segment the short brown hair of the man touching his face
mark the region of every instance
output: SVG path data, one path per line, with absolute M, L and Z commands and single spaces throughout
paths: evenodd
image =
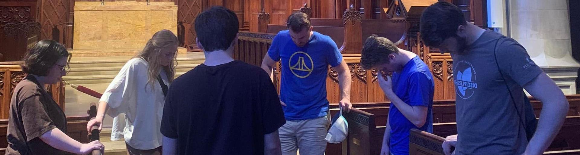
M 362 68 L 371 69 L 375 65 L 390 63 L 389 54 L 392 53 L 399 53 L 397 46 L 391 40 L 373 34 L 367 38 L 362 47 Z

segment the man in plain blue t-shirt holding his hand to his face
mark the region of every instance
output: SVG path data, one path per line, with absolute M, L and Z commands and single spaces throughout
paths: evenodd
M 409 154 L 409 130 L 433 132 L 434 83 L 429 67 L 415 53 L 389 39 L 371 35 L 362 48 L 361 65 L 378 69 L 380 88 L 391 104 L 381 155 Z M 393 72 L 383 77 L 381 72 Z

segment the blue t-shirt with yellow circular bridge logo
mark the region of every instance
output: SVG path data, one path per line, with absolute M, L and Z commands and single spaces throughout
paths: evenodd
M 272 40 L 268 56 L 282 63 L 280 99 L 287 120 L 314 119 L 327 115 L 326 79 L 328 65 L 336 67 L 342 54 L 327 35 L 313 32 L 308 43 L 298 47 L 288 32 Z

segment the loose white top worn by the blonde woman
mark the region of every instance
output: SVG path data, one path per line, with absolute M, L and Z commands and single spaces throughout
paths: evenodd
M 100 99 L 108 103 L 107 114 L 111 117 L 121 113 L 125 115 L 125 127 L 118 126 L 119 124 L 117 127 L 122 130 L 125 142 L 140 150 L 155 149 L 162 144 L 160 127 L 165 95 L 157 80 L 153 83 L 153 88 L 151 84 L 147 84 L 147 68 L 147 61 L 142 58 L 127 61 Z M 164 72 L 161 72 L 161 79 L 169 87 Z M 118 134 L 111 133 L 111 138 L 115 135 Z

